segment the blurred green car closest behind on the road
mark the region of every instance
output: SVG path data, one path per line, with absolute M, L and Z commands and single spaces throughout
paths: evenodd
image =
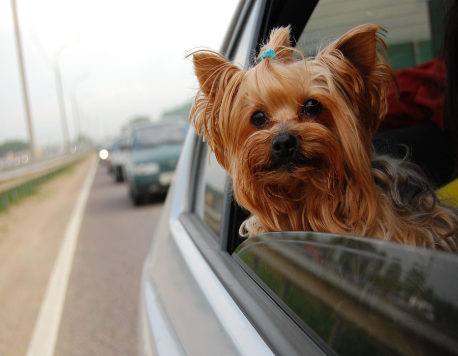
M 125 176 L 135 205 L 167 192 L 187 132 L 183 123 L 148 124 L 131 134 Z

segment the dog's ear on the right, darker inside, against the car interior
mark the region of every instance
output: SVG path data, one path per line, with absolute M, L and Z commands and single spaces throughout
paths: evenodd
M 358 26 L 318 55 L 333 74 L 337 87 L 344 91 L 370 136 L 373 136 L 387 111 L 387 91 L 394 73 L 385 58 L 386 46 L 374 24 Z

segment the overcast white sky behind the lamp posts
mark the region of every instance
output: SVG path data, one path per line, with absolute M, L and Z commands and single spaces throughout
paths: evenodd
M 16 0 L 37 146 L 63 142 L 52 62 L 60 56 L 70 138 L 116 136 L 133 117 L 153 120 L 195 94 L 185 55 L 219 50 L 239 0 Z M 79 40 L 78 40 L 79 39 Z M 76 90 L 75 90 L 76 87 Z M 0 0 L 0 143 L 28 140 L 11 0 Z

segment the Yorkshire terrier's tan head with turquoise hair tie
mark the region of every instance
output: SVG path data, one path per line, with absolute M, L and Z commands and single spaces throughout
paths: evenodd
M 289 28 L 277 28 L 248 71 L 215 52 L 193 54 L 200 90 L 191 122 L 266 230 L 299 228 L 282 220 L 305 205 L 318 211 L 342 194 L 370 195 L 370 140 L 393 77 L 380 30 L 356 27 L 306 58 L 290 46 Z M 329 214 L 342 209 L 332 204 Z

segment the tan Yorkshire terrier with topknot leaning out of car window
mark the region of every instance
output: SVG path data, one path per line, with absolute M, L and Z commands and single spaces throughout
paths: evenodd
M 358 26 L 306 57 L 276 28 L 247 71 L 193 53 L 190 121 L 253 214 L 241 235 L 311 230 L 457 251 L 458 212 L 417 166 L 374 153 L 395 80 L 382 31 Z

